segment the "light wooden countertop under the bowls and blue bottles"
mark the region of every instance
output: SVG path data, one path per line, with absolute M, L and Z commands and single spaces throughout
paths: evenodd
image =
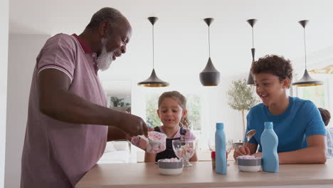
M 107 187 L 241 187 L 301 184 L 333 184 L 333 160 L 326 164 L 282 164 L 279 173 L 239 172 L 234 162 L 228 162 L 228 174 L 216 174 L 211 162 L 191 162 L 176 176 L 159 175 L 157 164 L 96 164 L 76 188 Z

